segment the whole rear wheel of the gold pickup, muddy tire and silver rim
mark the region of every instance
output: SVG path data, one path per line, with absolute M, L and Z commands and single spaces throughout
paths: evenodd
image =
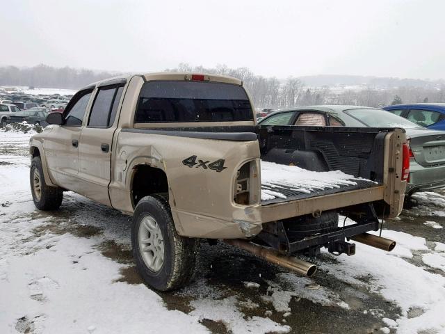
M 179 289 L 193 278 L 199 240 L 177 234 L 165 197 L 146 196 L 138 202 L 131 244 L 138 273 L 154 289 Z

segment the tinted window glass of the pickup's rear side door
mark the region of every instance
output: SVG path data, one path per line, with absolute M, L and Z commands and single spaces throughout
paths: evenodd
M 123 89 L 122 86 L 99 89 L 92 104 L 88 127 L 110 127 L 113 124 Z

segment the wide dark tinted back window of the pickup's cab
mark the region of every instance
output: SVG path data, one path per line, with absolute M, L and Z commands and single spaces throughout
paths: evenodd
M 148 81 L 140 90 L 137 123 L 253 120 L 245 90 L 203 81 Z

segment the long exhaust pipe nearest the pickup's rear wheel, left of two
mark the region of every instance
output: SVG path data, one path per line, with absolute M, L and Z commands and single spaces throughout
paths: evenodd
M 297 259 L 296 257 L 278 254 L 274 250 L 252 244 L 251 242 L 243 239 L 224 239 L 224 241 L 229 245 L 237 246 L 254 255 L 257 255 L 258 257 L 262 257 L 268 262 L 272 262 L 286 269 L 296 271 L 297 273 L 300 273 L 300 275 L 312 276 L 317 270 L 317 266 L 315 264 Z

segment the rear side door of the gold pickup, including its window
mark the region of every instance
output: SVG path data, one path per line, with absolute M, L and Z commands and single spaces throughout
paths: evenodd
M 108 184 L 111 180 L 113 134 L 118 126 L 118 106 L 126 81 L 97 87 L 86 127 L 79 141 L 79 179 L 82 194 L 111 205 Z

